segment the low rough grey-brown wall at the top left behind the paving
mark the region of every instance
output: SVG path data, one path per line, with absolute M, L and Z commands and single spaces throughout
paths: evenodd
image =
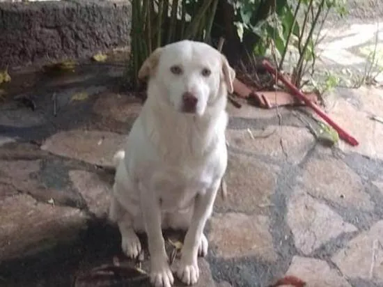
M 127 46 L 131 16 L 130 1 L 0 3 L 0 69 Z

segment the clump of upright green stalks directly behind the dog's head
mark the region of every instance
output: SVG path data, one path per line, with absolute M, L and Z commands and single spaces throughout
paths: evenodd
M 148 55 L 164 44 L 183 38 L 210 40 L 214 15 L 219 0 L 192 1 L 187 0 L 132 0 L 132 79 L 138 86 L 136 73 Z M 178 8 L 181 5 L 181 20 L 178 25 Z M 158 10 L 157 10 L 158 8 Z M 189 8 L 191 10 L 189 11 Z M 194 10 L 194 13 L 193 13 Z M 187 22 L 187 12 L 192 20 Z M 170 14 L 170 16 L 169 16 Z M 164 25 L 169 27 L 164 31 Z M 168 26 L 169 24 L 169 26 Z M 133 77 L 132 75 L 132 77 Z

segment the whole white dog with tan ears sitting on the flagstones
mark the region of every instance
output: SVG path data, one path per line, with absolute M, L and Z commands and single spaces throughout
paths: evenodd
M 173 284 L 162 228 L 187 230 L 177 275 L 195 284 L 197 256 L 208 252 L 203 228 L 226 171 L 225 108 L 235 71 L 217 49 L 183 40 L 156 49 L 139 70 L 144 77 L 148 98 L 115 156 L 109 216 L 127 256 L 141 252 L 136 232 L 148 235 L 156 287 Z

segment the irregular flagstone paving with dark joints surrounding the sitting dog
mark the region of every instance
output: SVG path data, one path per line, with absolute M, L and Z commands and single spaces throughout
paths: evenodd
M 141 100 L 113 88 L 122 68 L 98 65 L 58 79 L 34 75 L 28 93 L 18 88 L 28 75 L 8 87 L 12 97 L 0 106 L 0 286 L 101 286 L 74 281 L 122 256 L 116 226 L 105 220 L 111 158 Z M 301 121 L 311 121 L 304 109 L 228 104 L 228 194 L 206 228 L 210 251 L 196 286 L 266 287 L 284 274 L 315 287 L 383 286 L 383 124 L 370 119 L 383 117 L 382 93 L 338 88 L 326 98 L 357 148 L 322 146 Z

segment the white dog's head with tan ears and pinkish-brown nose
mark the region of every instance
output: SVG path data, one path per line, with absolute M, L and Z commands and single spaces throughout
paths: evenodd
M 157 48 L 139 70 L 149 77 L 155 96 L 174 109 L 202 116 L 227 92 L 233 93 L 235 71 L 226 57 L 203 42 L 183 40 Z

